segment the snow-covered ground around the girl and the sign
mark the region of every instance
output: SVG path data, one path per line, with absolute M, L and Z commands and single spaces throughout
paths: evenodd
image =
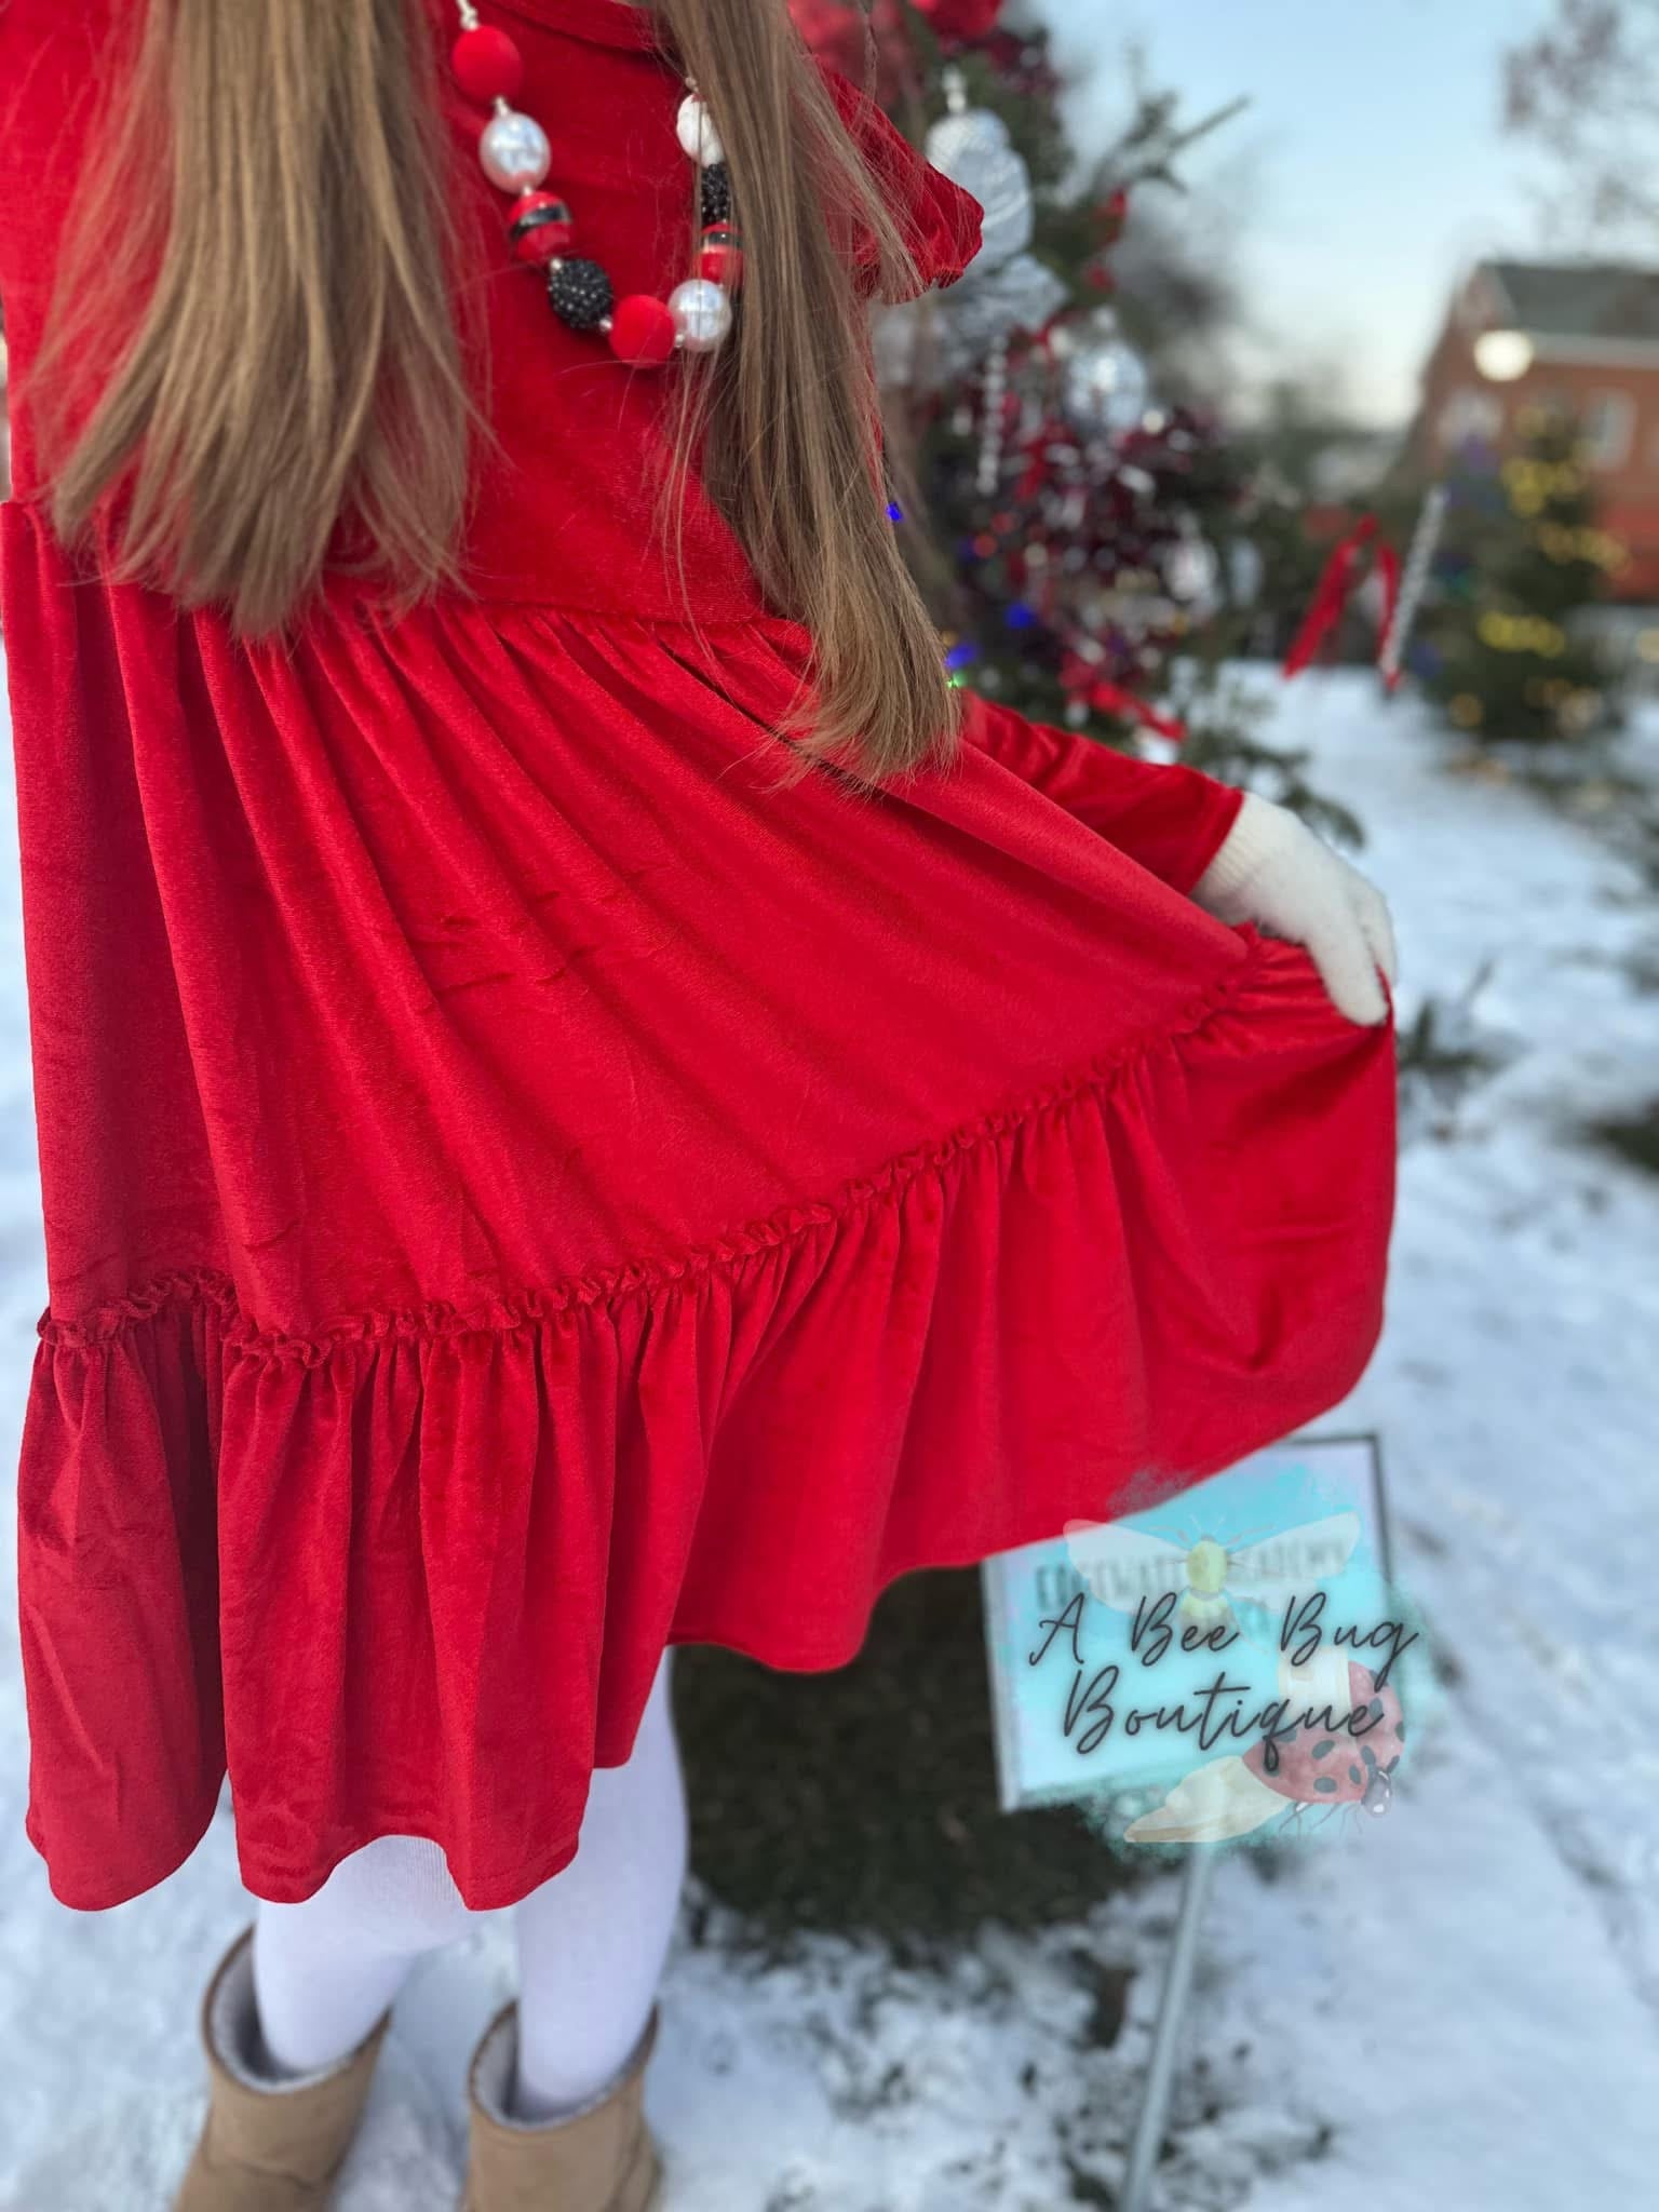
M 1391 1321 L 1329 1427 L 1378 1427 L 1400 1571 L 1447 1674 L 1387 1820 L 1217 1882 L 1168 2208 L 1579 2212 L 1659 2174 L 1659 1179 L 1582 1124 L 1659 1095 L 1659 909 L 1520 790 L 1449 776 L 1354 677 L 1281 734 L 1371 832 L 1402 1011 L 1455 1000 L 1513 1057 L 1413 1110 Z M 24 1006 L 0 914 L 0 1462 L 42 1305 Z M 1641 964 L 1646 956 L 1646 967 Z M 1646 973 L 1646 989 L 1644 989 Z M 4 1544 L 11 1542 L 7 1524 Z M 55 1907 L 22 1838 L 0 1641 L 0 2212 L 159 2212 L 197 2124 L 192 2004 L 241 1913 L 221 1823 L 164 1889 Z M 1110 2203 L 1155 2002 L 1115 2042 L 1099 1971 L 1152 1964 L 1172 1882 L 1075 1929 L 991 1931 L 947 1975 L 814 1942 L 761 1966 L 719 1922 L 668 1982 L 650 2104 L 670 2212 L 1048 2212 Z M 502 1929 L 411 1986 L 343 2212 L 449 2212 L 460 2062 Z

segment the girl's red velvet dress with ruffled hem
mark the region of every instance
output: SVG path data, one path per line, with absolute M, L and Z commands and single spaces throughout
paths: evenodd
M 106 4 L 0 11 L 24 387 Z M 495 15 L 582 237 L 666 290 L 648 20 Z M 867 137 L 949 281 L 973 204 Z M 80 1907 L 226 1772 L 261 1896 L 396 1832 L 518 1898 L 666 1641 L 838 1666 L 894 1575 L 1228 1464 L 1378 1329 L 1391 1037 L 1183 896 L 1234 796 L 989 708 L 878 799 L 779 792 L 803 635 L 710 509 L 695 622 L 653 551 L 672 369 L 566 332 L 467 190 L 476 597 L 237 650 L 64 555 L 18 418 L 29 1827 Z

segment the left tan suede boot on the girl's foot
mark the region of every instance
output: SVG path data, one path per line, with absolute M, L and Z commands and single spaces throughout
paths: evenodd
M 219 1962 L 201 2002 L 208 2121 L 175 2212 L 325 2212 L 352 2148 L 392 2015 L 327 2073 L 261 2068 L 252 1929 Z

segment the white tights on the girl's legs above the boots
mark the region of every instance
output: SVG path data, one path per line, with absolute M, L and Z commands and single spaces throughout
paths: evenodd
M 599 1767 L 575 1858 L 513 1907 L 518 2075 L 513 2112 L 555 2119 L 628 2064 L 657 1997 L 686 1878 L 686 1790 L 668 1703 L 668 1657 L 633 1756 Z M 471 1913 L 436 1843 L 380 1836 L 303 1905 L 259 1905 L 254 1997 L 283 2073 L 354 2051 L 416 1960 Z

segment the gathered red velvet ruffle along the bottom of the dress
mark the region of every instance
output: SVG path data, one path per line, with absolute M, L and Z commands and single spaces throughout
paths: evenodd
M 1323 1161 L 1272 1104 L 1310 1082 L 1358 1139 Z M 44 1323 L 22 1624 L 58 1896 L 161 1880 L 228 1767 L 259 1896 L 416 1834 L 507 1905 L 573 1856 L 666 1641 L 838 1666 L 896 1575 L 1312 1418 L 1380 1323 L 1389 1088 L 1254 940 L 1168 1035 L 675 1261 L 310 1338 L 212 1272 Z

